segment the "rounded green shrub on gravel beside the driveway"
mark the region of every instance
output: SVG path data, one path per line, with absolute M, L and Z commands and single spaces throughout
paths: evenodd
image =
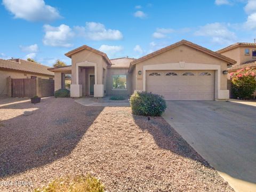
M 148 92 L 134 92 L 130 103 L 134 115 L 160 116 L 166 109 L 166 102 L 162 95 Z

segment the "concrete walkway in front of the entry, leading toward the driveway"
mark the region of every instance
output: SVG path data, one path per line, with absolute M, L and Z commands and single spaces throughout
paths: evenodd
M 113 101 L 108 98 L 95 99 L 91 97 L 79 98 L 75 100 L 83 106 L 100 106 L 100 107 L 130 107 L 128 100 Z

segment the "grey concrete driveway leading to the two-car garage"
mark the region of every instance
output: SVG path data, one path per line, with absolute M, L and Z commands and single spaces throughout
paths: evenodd
M 256 191 L 256 107 L 223 101 L 167 101 L 165 120 L 236 191 Z

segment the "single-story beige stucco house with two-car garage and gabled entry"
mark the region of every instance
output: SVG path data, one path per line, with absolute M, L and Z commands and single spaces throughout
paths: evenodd
M 50 68 L 55 90 L 71 73 L 71 97 L 132 94 L 148 91 L 166 100 L 228 99 L 228 65 L 235 60 L 186 40 L 139 59 L 109 59 L 103 52 L 81 46 L 65 54 L 71 66 Z

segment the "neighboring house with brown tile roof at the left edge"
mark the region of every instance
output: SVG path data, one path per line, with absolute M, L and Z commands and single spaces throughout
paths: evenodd
M 54 73 L 47 68 L 49 67 L 22 59 L 0 59 L 0 96 L 7 94 L 7 77 L 53 79 Z

